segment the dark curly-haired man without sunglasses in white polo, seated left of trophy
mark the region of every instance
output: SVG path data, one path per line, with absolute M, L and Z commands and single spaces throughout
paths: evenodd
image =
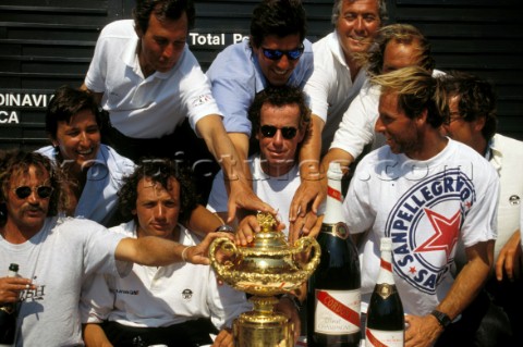
M 196 207 L 196 194 L 187 171 L 174 161 L 144 162 L 125 178 L 119 197 L 119 208 L 131 221 L 111 232 L 134 239 L 158 236 L 187 249 L 199 243 L 198 235 L 178 223 Z M 245 294 L 220 284 L 210 267 L 187 263 L 134 265 L 124 278 L 97 275 L 84 289 L 88 345 L 141 340 L 144 346 L 232 347 L 232 321 L 252 309 Z M 285 303 L 293 308 L 288 299 L 279 306 Z

